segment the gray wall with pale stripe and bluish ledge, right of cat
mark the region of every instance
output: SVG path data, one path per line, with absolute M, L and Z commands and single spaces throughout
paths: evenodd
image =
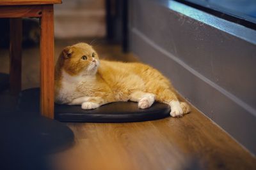
M 256 153 L 256 31 L 175 1 L 129 1 L 132 52 Z

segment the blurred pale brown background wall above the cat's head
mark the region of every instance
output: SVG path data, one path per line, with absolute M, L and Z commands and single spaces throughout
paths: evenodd
M 54 5 L 54 35 L 59 39 L 102 38 L 105 18 L 105 0 L 62 0 Z

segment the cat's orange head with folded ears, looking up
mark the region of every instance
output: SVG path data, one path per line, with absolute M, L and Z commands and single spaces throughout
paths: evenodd
M 65 47 L 59 60 L 61 67 L 72 76 L 95 74 L 100 64 L 97 52 L 86 43 Z

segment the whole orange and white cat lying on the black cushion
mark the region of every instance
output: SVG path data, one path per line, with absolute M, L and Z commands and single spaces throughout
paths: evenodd
M 140 109 L 159 101 L 170 105 L 172 117 L 189 112 L 189 105 L 179 102 L 170 81 L 156 69 L 136 62 L 99 60 L 86 43 L 64 48 L 55 67 L 55 102 L 91 110 L 116 101 L 138 102 Z

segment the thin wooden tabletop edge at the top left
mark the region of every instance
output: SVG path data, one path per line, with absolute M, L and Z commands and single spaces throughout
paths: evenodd
M 1 0 L 1 5 L 61 4 L 61 0 Z

